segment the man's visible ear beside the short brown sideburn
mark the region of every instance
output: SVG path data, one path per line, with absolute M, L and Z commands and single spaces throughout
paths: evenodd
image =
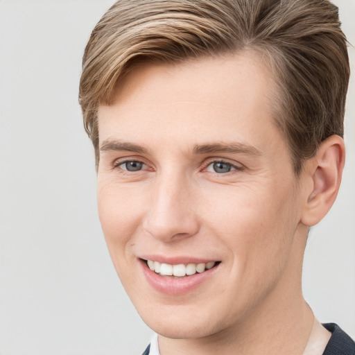
M 307 193 L 301 222 L 311 227 L 322 220 L 336 200 L 345 164 L 345 145 L 332 135 L 320 144 L 317 154 L 306 161 L 304 178 Z

